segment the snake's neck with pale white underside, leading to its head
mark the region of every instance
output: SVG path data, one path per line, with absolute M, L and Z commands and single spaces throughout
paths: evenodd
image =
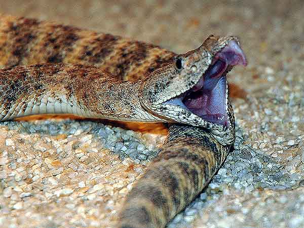
M 37 114 L 73 114 L 161 122 L 139 102 L 142 80 L 117 81 L 93 66 L 44 64 L 0 70 L 0 121 Z

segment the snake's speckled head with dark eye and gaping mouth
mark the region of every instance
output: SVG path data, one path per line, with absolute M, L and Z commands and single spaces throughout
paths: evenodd
M 201 47 L 176 55 L 142 84 L 140 102 L 166 122 L 208 129 L 223 145 L 235 139 L 226 74 L 247 65 L 235 36 L 210 35 Z

